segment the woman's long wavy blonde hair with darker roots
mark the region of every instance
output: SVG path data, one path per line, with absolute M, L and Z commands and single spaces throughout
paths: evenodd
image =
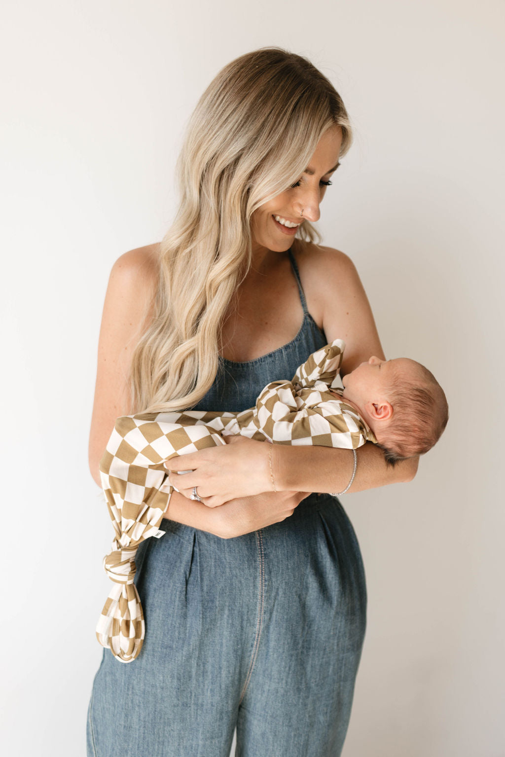
M 214 382 L 223 317 L 251 265 L 251 216 L 298 181 L 320 137 L 351 126 L 329 79 L 281 48 L 236 58 L 198 101 L 177 163 L 179 210 L 160 245 L 154 318 L 132 355 L 136 412 L 193 407 Z M 308 222 L 297 237 L 320 241 Z

